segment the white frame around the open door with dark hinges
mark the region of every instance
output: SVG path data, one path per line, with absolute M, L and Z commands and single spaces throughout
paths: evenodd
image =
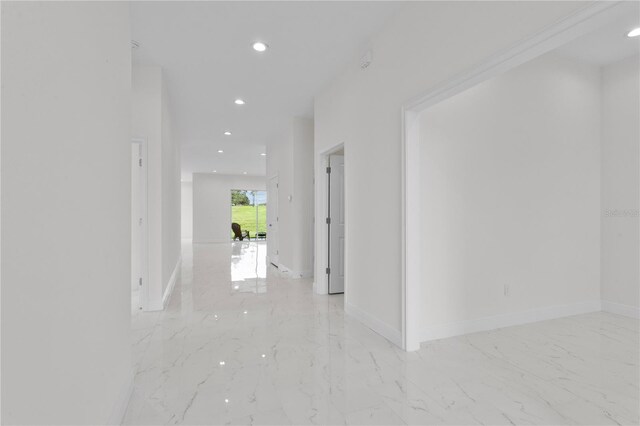
M 314 273 L 314 282 L 313 282 L 313 290 L 316 294 L 329 294 L 329 280 L 326 274 L 326 267 L 328 262 L 328 253 L 329 253 L 329 233 L 325 228 L 326 222 L 325 218 L 327 215 L 327 211 L 329 208 L 329 185 L 327 182 L 327 174 L 326 168 L 329 166 L 329 156 L 343 150 L 344 151 L 344 165 L 345 170 L 347 168 L 347 150 L 345 149 L 344 142 L 339 142 L 330 148 L 321 151 L 318 157 L 318 161 L 316 162 L 318 169 L 316 170 L 316 208 L 315 208 L 315 236 L 316 236 L 316 251 L 314 254 L 315 260 L 315 273 Z M 346 249 L 346 239 L 347 232 L 349 226 L 349 216 L 347 213 L 347 176 L 345 173 L 344 176 L 344 235 L 345 235 L 345 250 L 344 250 L 344 303 L 345 306 L 347 304 L 348 298 L 348 250 Z

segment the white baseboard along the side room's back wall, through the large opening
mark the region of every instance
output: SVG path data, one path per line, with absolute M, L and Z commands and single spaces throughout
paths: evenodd
M 570 305 L 550 306 L 547 308 L 531 309 L 524 312 L 495 315 L 468 321 L 459 321 L 448 324 L 440 324 L 427 327 L 419 335 L 420 342 L 444 339 L 479 331 L 495 330 L 514 325 L 529 324 L 532 322 L 568 317 L 571 315 L 598 312 L 601 310 L 599 300 L 589 302 L 572 303 Z

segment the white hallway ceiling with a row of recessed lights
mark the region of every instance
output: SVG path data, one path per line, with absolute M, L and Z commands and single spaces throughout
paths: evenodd
M 366 46 L 399 2 L 133 2 L 134 63 L 164 69 L 182 179 L 266 173 L 266 145 Z M 257 53 L 261 40 L 270 48 Z M 246 105 L 233 101 L 242 98 Z M 230 130 L 231 136 L 223 132 Z M 218 154 L 219 149 L 224 150 Z

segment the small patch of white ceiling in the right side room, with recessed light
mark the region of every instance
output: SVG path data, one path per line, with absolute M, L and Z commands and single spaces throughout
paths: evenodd
M 640 26 L 640 2 L 629 2 L 625 8 L 625 16 L 560 47 L 558 52 L 600 66 L 637 55 L 640 37 L 629 38 L 626 34 Z

